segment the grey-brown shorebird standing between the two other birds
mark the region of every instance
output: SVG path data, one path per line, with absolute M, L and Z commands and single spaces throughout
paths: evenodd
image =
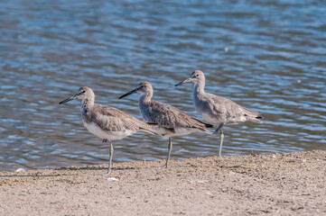
M 157 124 L 154 126 L 155 133 L 162 136 L 164 139 L 169 139 L 165 167 L 168 166 L 171 154 L 172 137 L 188 135 L 192 132 L 211 134 L 210 130 L 207 130 L 207 128 L 211 128 L 213 125 L 192 118 L 190 115 L 172 105 L 151 101 L 153 87 L 149 82 L 140 83 L 134 90 L 120 96 L 119 99 L 134 93 L 141 94 L 138 107 L 143 120 L 149 124 Z

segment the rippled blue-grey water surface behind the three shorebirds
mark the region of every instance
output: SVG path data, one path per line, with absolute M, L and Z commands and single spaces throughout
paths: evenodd
M 302 4 L 297 2 L 303 2 Z M 154 100 L 201 119 L 189 85 L 264 113 L 224 129 L 224 155 L 326 148 L 325 1 L 3 1 L 0 3 L 0 170 L 107 163 L 108 145 L 83 128 L 79 101 L 140 118 L 140 81 Z M 115 141 L 114 161 L 163 159 L 167 140 Z M 219 137 L 173 139 L 172 159 L 215 156 Z

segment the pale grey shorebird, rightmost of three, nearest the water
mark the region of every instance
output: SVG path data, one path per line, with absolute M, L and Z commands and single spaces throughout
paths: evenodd
M 260 119 L 263 117 L 260 116 L 260 112 L 250 111 L 246 107 L 240 106 L 228 98 L 206 93 L 204 91 L 205 76 L 202 71 L 193 71 L 191 77 L 175 86 L 189 82 L 194 83 L 192 101 L 195 110 L 200 113 L 205 121 L 219 125 L 217 130 L 215 130 L 215 132 L 220 132 L 219 156 L 221 156 L 222 153 L 224 125 L 238 124 L 238 122 L 242 121 L 256 121 L 262 123 Z

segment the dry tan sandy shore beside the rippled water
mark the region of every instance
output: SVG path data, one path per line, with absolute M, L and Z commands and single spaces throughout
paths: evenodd
M 0 215 L 326 215 L 326 151 L 0 173 Z

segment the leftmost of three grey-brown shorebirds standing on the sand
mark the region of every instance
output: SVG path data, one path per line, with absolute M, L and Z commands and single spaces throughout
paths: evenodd
M 61 101 L 61 103 L 76 99 L 82 101 L 80 112 L 85 128 L 95 136 L 103 139 L 102 142 L 110 142 L 107 174 L 111 172 L 114 151 L 112 140 L 123 139 L 136 131 L 152 133 L 152 125 L 148 125 L 130 114 L 107 105 L 94 104 L 95 94 L 87 86 L 80 87 L 75 95 Z

